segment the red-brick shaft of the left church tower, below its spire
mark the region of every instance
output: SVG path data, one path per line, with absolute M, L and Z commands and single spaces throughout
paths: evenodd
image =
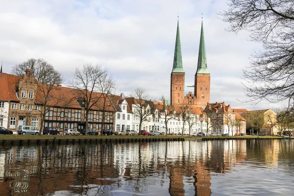
M 171 74 L 171 104 L 182 104 L 184 102 L 185 73 Z

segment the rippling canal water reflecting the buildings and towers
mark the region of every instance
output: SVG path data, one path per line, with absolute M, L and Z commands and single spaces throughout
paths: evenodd
M 0 196 L 292 196 L 294 140 L 0 147 Z

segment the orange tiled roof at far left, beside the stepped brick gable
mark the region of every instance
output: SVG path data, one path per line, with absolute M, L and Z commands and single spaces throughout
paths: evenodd
M 15 90 L 22 77 L 7 73 L 0 73 L 0 100 L 19 101 Z

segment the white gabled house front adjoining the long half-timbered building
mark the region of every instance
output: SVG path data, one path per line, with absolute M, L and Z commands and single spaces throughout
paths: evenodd
M 115 131 L 125 131 L 132 129 L 132 113 L 127 112 L 127 102 L 125 100 L 119 103 L 121 111 L 115 114 Z

